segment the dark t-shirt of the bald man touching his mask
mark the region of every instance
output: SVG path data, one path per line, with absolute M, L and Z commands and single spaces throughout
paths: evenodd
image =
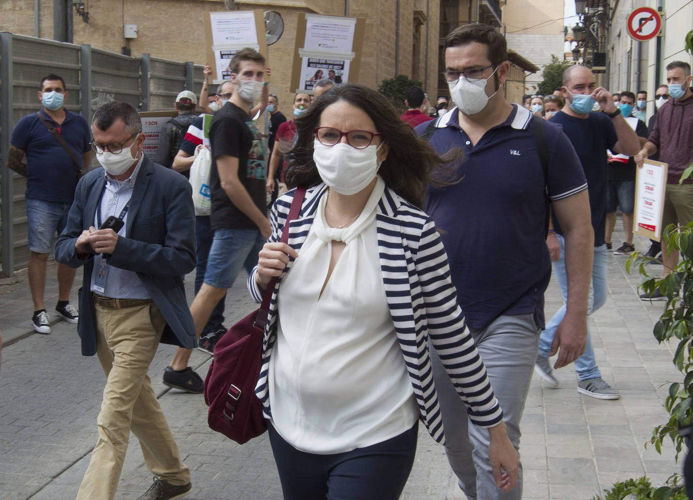
M 563 125 L 563 132 L 577 152 L 587 179 L 590 195 L 592 227 L 595 230 L 595 247 L 604 244 L 606 224 L 606 150 L 613 150 L 617 142 L 616 130 L 611 118 L 599 111 L 590 112 L 588 118 L 575 118 L 559 111 L 551 118 Z M 556 233 L 563 234 L 556 217 L 553 217 Z

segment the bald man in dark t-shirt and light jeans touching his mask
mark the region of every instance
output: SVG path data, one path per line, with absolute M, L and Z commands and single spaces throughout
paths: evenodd
M 640 141 L 635 130 L 628 124 L 621 110 L 616 107 L 611 93 L 604 87 L 597 87 L 595 75 L 585 66 L 570 66 L 563 72 L 563 109 L 552 118 L 552 123 L 563 126 L 563 132 L 568 136 L 575 148 L 580 163 L 585 172 L 590 194 L 590 213 L 592 227 L 595 232 L 593 247 L 593 271 L 590 285 L 589 313 L 592 314 L 606 301 L 606 265 L 608 250 L 604 242 L 606 227 L 606 188 L 608 185 L 608 164 L 606 150 L 633 156 L 640 150 Z M 632 94 L 631 94 L 632 95 Z M 599 103 L 601 111 L 593 112 L 595 102 Z M 565 243 L 565 228 L 563 221 L 554 219 L 555 235 L 547 239 L 550 248 L 558 249 L 560 258 L 554 262 L 554 272 L 561 287 L 563 300 L 570 303 L 568 281 L 565 266 L 568 262 L 563 258 Z M 554 355 L 554 336 L 559 328 L 565 305 L 556 312 L 541 332 L 539 355 L 536 359 L 536 373 L 541 375 L 548 384 L 556 387 L 558 380 L 552 374 L 549 357 Z M 559 368 L 556 366 L 556 368 Z M 592 342 L 587 337 L 585 352 L 575 360 L 575 371 L 578 375 L 577 391 L 592 398 L 601 400 L 617 400 L 618 391 L 602 379 L 599 367 L 595 361 Z

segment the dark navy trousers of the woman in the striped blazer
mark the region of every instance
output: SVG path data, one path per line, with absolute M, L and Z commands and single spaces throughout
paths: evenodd
M 268 424 L 284 500 L 397 500 L 407 482 L 419 422 L 399 436 L 351 452 L 300 452 Z

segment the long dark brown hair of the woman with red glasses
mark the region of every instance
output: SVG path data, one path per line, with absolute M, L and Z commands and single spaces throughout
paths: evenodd
M 417 136 L 399 118 L 383 94 L 358 83 L 332 87 L 313 102 L 304 116 L 295 118 L 296 142 L 289 153 L 286 184 L 292 188 L 310 187 L 322 182 L 313 161 L 313 131 L 326 107 L 338 101 L 362 109 L 373 120 L 381 134 L 381 142 L 387 143 L 389 148 L 378 174 L 388 188 L 407 202 L 423 208 L 429 182 L 439 184 L 431 178 L 432 171 L 449 160 L 439 157 L 426 141 Z

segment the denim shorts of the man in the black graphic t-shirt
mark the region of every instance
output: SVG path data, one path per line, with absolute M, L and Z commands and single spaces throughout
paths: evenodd
M 204 283 L 215 288 L 231 288 L 241 266 L 248 273 L 253 270 L 264 244 L 265 239 L 257 229 L 215 229 Z

